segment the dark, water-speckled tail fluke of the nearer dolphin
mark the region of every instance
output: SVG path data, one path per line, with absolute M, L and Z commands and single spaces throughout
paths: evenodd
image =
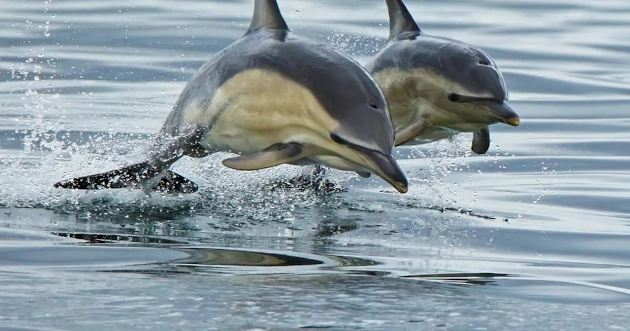
M 123 168 L 97 173 L 84 177 L 72 178 L 55 183 L 62 189 L 103 190 L 143 188 L 168 193 L 194 193 L 198 186 L 185 177 L 171 170 L 163 170 L 148 162 L 137 163 Z

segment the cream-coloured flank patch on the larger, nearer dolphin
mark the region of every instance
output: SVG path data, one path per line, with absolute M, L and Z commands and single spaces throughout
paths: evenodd
M 264 69 L 236 74 L 217 89 L 207 109 L 186 115 L 185 123 L 214 122 L 203 144 L 246 154 L 276 142 L 321 145 L 339 127 L 306 87 Z

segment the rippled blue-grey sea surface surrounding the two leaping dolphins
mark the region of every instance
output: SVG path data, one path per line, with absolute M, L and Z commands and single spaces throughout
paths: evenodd
M 365 62 L 381 0 L 281 0 Z M 397 151 L 411 189 L 271 189 L 179 161 L 185 197 L 58 190 L 142 158 L 252 1 L 0 2 L 0 330 L 630 329 L 630 2 L 412 1 L 501 67 L 519 127 Z

